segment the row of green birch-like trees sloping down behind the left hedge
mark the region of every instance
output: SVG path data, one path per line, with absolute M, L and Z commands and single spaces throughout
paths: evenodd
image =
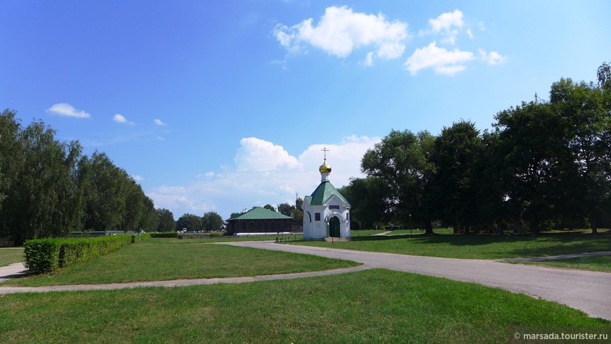
M 105 153 L 81 152 L 42 121 L 23 128 L 14 111 L 0 114 L 0 237 L 20 244 L 73 230 L 174 229 L 171 212 L 156 210 Z

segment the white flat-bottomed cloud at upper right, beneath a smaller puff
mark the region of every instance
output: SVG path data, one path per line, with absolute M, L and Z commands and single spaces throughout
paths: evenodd
M 419 70 L 431 67 L 438 74 L 453 75 L 465 70 L 464 62 L 473 60 L 473 53 L 470 51 L 447 51 L 445 48 L 438 47 L 435 42 L 431 42 L 424 48 L 418 48 L 412 56 L 405 62 L 407 70 L 416 74 Z

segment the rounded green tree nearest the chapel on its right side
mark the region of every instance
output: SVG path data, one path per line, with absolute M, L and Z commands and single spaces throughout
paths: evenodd
M 424 197 L 435 171 L 430 161 L 434 143 L 435 137 L 428 131 L 416 135 L 393 130 L 361 160 L 363 173 L 383 182 L 383 199 L 390 215 L 402 223 L 413 215 L 427 234 L 433 234 L 432 214 L 426 209 Z

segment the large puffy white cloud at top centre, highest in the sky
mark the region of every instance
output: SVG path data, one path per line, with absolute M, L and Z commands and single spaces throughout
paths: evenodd
M 272 33 L 289 53 L 301 53 L 302 44 L 345 58 L 355 48 L 375 46 L 376 58 L 398 58 L 405 51 L 407 23 L 389 22 L 382 13 L 378 15 L 355 13 L 347 6 L 331 6 L 325 9 L 317 25 L 313 18 L 288 27 L 276 25 Z M 371 60 L 374 55 L 369 55 Z

